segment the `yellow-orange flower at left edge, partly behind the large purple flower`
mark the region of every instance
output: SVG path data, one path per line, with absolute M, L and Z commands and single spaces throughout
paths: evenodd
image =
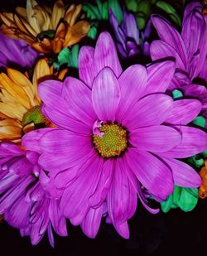
M 22 135 L 30 130 L 51 127 L 41 114 L 37 86 L 46 79 L 63 80 L 66 71 L 54 74 L 46 59 L 41 59 L 36 63 L 32 84 L 18 70 L 7 68 L 7 74 L 0 74 L 0 141 L 20 142 Z

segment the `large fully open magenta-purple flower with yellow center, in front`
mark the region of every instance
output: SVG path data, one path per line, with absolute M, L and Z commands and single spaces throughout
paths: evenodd
M 174 72 L 170 60 L 123 71 L 103 32 L 95 49 L 79 51 L 80 80 L 39 85 L 44 114 L 58 128 L 27 133 L 23 147 L 40 152 L 39 164 L 63 191 L 60 210 L 89 237 L 107 209 L 107 221 L 128 238 L 137 196 L 146 202 L 142 186 L 159 201 L 174 185 L 200 186 L 195 170 L 176 158 L 207 148 L 206 133 L 185 126 L 201 104 L 164 94 Z

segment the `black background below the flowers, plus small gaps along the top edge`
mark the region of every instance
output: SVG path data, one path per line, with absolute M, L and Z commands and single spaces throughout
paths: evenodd
M 0 2 L 0 11 L 12 11 L 14 7 L 24 6 L 25 0 Z M 54 2 L 54 1 L 39 1 Z M 76 1 L 78 2 L 78 1 Z M 79 1 L 81 2 L 81 1 Z M 91 2 L 91 1 L 89 1 Z M 181 0 L 171 2 L 182 13 Z M 190 2 L 190 1 L 188 1 Z M 164 214 L 152 215 L 141 204 L 137 213 L 129 220 L 130 239 L 122 239 L 112 225 L 104 220 L 96 239 L 87 238 L 79 227 L 68 224 L 69 236 L 55 235 L 55 249 L 52 249 L 47 236 L 41 243 L 32 246 L 28 237 L 21 238 L 19 231 L 0 224 L 1 255 L 206 255 L 207 252 L 207 199 L 199 200 L 195 210 L 185 213 L 171 210 Z

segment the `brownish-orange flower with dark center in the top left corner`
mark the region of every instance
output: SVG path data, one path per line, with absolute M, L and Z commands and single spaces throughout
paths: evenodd
M 27 0 L 26 8 L 16 13 L 0 13 L 2 32 L 15 39 L 24 39 L 42 53 L 58 53 L 63 47 L 75 45 L 89 31 L 89 22 L 78 21 L 81 5 L 65 7 L 57 0 L 53 8 L 41 7 L 35 0 Z

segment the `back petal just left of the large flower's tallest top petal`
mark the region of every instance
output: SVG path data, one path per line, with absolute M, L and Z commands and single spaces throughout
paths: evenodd
M 79 79 L 91 88 L 94 77 L 94 48 L 82 46 L 79 50 Z

